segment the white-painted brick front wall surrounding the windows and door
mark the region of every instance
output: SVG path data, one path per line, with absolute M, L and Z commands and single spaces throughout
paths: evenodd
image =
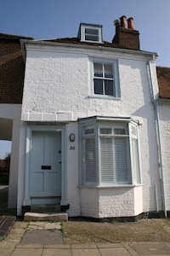
M 141 212 L 156 211 L 157 204 L 162 210 L 155 110 L 150 97 L 147 57 L 94 49 L 40 45 L 38 48 L 35 45 L 27 46 L 22 120 L 73 121 L 67 125 L 66 139 L 69 215 L 94 218 L 135 216 Z M 118 60 L 120 98 L 102 99 L 90 96 L 89 56 Z M 76 121 L 78 118 L 94 115 L 132 117 L 139 121 L 143 186 L 115 189 L 78 187 L 79 149 Z M 69 142 L 72 131 L 76 134 L 74 150 L 70 150 Z M 158 190 L 157 201 L 155 186 Z

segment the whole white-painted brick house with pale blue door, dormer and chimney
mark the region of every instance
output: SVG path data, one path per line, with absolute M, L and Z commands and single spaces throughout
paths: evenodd
M 103 41 L 102 26 L 84 23 L 77 38 L 21 40 L 18 215 L 51 204 L 70 217 L 165 210 L 157 55 L 139 49 L 132 21 L 116 20 L 112 43 Z

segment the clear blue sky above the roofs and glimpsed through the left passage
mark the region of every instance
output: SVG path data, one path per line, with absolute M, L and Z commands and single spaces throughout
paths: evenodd
M 0 0 L 0 32 L 35 39 L 77 37 L 81 22 L 103 26 L 111 42 L 114 20 L 133 17 L 140 49 L 156 52 L 156 66 L 170 67 L 170 0 Z M 0 157 L 11 144 L 0 141 Z

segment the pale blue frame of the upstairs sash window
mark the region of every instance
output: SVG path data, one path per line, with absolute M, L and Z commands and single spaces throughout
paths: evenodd
M 115 59 L 107 59 L 107 58 L 98 58 L 98 57 L 89 57 L 90 61 L 90 96 L 97 97 L 97 98 L 107 98 L 107 99 L 120 99 L 121 97 L 121 90 L 120 90 L 120 84 L 119 84 L 119 73 L 118 73 L 118 61 Z M 112 65 L 113 70 L 113 79 L 107 79 L 107 78 L 101 78 L 103 80 L 112 80 L 113 81 L 113 91 L 115 92 L 114 95 L 105 95 L 104 94 L 95 94 L 94 93 L 94 79 L 96 78 L 94 76 L 94 63 L 100 63 L 102 66 L 104 64 Z

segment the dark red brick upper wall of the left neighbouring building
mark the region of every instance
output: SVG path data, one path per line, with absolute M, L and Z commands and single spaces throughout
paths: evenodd
M 22 102 L 24 67 L 20 39 L 0 37 L 0 103 Z

